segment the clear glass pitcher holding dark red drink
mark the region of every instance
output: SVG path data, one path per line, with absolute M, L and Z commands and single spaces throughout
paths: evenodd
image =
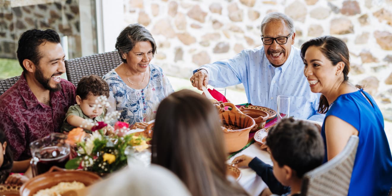
M 33 176 L 47 172 L 52 166 L 65 167 L 69 160 L 69 144 L 65 143 L 66 134 L 51 133 L 30 143 L 30 161 Z

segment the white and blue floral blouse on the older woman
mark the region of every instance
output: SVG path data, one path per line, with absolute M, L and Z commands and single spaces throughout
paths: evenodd
M 114 109 L 120 111 L 119 121 L 132 125 L 136 122 L 154 120 L 159 103 L 174 92 L 162 68 L 153 64 L 149 64 L 149 66 L 150 81 L 143 89 L 129 87 L 114 69 L 102 77 L 109 84 L 108 101 L 111 107 L 108 109 L 108 113 Z M 114 122 L 109 123 L 113 124 Z

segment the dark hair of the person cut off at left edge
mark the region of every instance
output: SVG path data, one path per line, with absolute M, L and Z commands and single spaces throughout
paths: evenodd
M 0 128 L 0 143 L 3 145 L 4 142 L 7 142 L 7 137 L 5 136 L 5 132 Z M 0 167 L 0 183 L 4 183 L 4 181 L 8 178 L 9 172 L 11 172 L 12 165 L 14 163 L 14 157 L 12 155 L 11 148 L 7 146 L 5 148 L 5 154 L 3 158 L 3 165 Z

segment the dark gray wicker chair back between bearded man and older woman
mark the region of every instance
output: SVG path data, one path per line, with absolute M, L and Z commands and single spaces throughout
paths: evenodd
M 80 78 L 92 74 L 103 76 L 121 63 L 121 58 L 117 51 L 83 56 L 65 61 L 65 72 L 67 79 L 75 86 Z

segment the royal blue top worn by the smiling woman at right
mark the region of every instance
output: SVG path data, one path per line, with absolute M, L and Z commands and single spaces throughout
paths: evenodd
M 370 100 L 366 100 L 362 93 Z M 336 116 L 358 130 L 358 149 L 348 195 L 388 195 L 392 185 L 392 156 L 384 131 L 384 118 L 370 94 L 360 89 L 340 95 L 331 105 L 328 116 Z M 325 120 L 321 130 L 325 144 Z

